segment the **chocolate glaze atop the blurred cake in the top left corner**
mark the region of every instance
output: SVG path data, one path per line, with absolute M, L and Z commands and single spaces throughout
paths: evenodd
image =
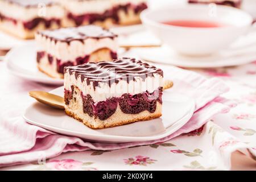
M 16 5 L 23 7 L 38 7 L 39 3 L 44 3 L 46 5 L 53 5 L 56 2 L 52 0 L 5 0 L 10 3 L 15 3 Z

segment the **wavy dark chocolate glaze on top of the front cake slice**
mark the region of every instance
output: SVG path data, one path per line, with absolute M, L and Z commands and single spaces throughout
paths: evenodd
M 75 77 L 86 81 L 87 85 L 93 83 L 94 89 L 99 82 L 118 83 L 120 80 L 129 83 L 135 80 L 135 77 L 153 77 L 153 74 L 163 76 L 163 71 L 154 66 L 142 63 L 140 60 L 123 57 L 113 61 L 102 61 L 99 63 L 87 63 L 75 67 L 65 67 L 65 74 L 75 74 Z

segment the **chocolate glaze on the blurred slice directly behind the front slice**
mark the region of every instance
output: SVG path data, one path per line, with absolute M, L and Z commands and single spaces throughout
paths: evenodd
M 102 39 L 102 38 L 115 38 L 117 35 L 112 32 L 105 30 L 102 27 L 88 25 L 81 27 L 71 27 L 71 28 L 60 28 L 57 30 L 45 30 L 39 31 L 38 34 L 45 36 L 51 40 L 61 41 L 61 42 L 71 42 L 72 40 L 83 41 L 88 38 Z

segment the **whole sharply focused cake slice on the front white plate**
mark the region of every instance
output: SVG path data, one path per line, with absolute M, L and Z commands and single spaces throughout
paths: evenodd
M 122 58 L 65 67 L 65 112 L 92 129 L 162 115 L 163 71 Z

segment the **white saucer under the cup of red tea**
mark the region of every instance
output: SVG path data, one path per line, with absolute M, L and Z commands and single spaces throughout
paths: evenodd
M 145 34 L 144 34 L 145 35 Z M 149 39 L 139 33 L 136 37 Z M 135 37 L 135 35 L 133 35 Z M 243 36 L 232 44 L 231 47 L 210 56 L 185 56 L 179 55 L 168 46 L 160 48 L 140 48 L 134 49 L 134 52 L 143 60 L 170 64 L 185 68 L 214 68 L 230 67 L 235 65 L 247 64 L 256 60 L 256 32 Z

